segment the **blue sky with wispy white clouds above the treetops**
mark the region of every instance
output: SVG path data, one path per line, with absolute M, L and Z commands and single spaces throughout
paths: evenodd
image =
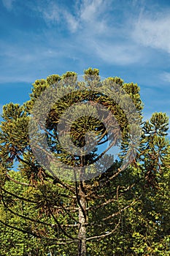
M 0 0 L 0 109 L 31 83 L 88 67 L 138 83 L 144 116 L 170 116 L 170 2 Z

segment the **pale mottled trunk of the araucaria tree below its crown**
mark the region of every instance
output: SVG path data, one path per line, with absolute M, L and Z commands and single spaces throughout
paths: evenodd
M 85 211 L 87 202 L 85 198 L 85 192 L 83 191 L 82 183 L 80 183 L 80 206 L 79 206 L 79 222 L 80 229 L 78 233 L 79 248 L 78 248 L 78 256 L 86 256 L 86 222 L 87 222 L 87 214 Z

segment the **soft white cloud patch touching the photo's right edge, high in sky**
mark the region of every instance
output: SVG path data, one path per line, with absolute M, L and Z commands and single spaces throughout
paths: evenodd
M 154 12 L 153 12 L 154 13 Z M 132 36 L 144 46 L 170 53 L 170 15 L 167 12 L 141 15 L 134 26 Z

